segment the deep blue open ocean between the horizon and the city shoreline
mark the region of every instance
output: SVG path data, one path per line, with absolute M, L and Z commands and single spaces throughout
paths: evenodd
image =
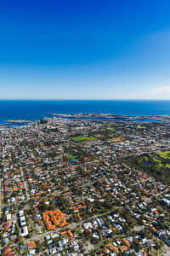
M 170 115 L 170 101 L 1 100 L 0 125 L 8 119 L 38 120 L 48 113 L 113 113 L 126 116 Z M 18 124 L 15 124 L 18 125 Z

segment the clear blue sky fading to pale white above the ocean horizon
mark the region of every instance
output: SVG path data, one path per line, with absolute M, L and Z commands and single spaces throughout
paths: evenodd
M 170 99 L 169 0 L 0 3 L 1 99 Z

